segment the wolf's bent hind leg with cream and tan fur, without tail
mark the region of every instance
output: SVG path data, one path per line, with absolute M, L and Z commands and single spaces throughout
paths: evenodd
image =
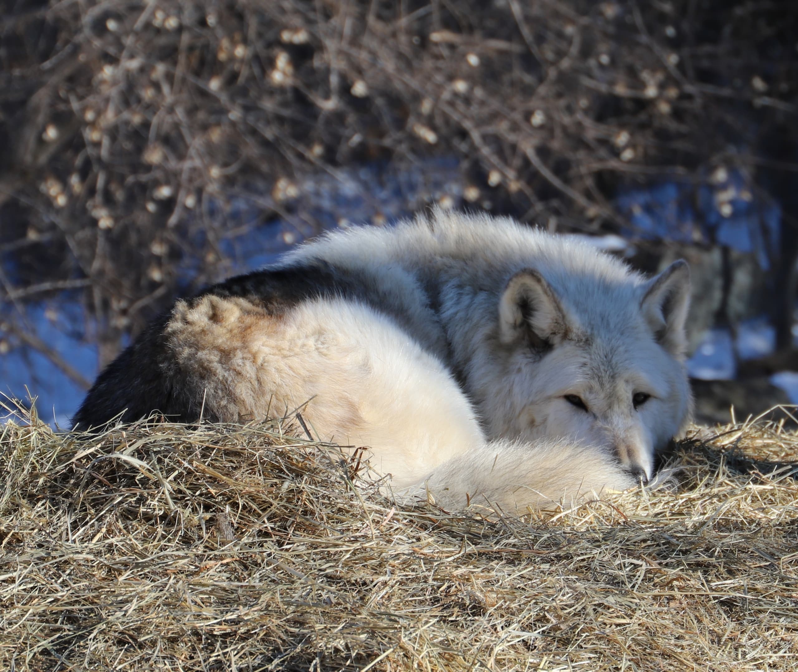
M 167 332 L 206 417 L 299 410 L 314 437 L 368 446 L 393 487 L 484 444 L 444 364 L 365 305 L 319 299 L 275 317 L 243 299 L 204 297 L 178 305 Z

